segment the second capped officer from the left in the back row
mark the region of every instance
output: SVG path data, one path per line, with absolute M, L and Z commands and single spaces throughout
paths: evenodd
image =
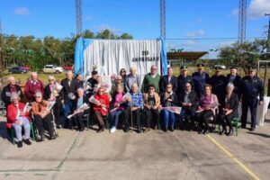
M 204 86 L 210 81 L 210 77 L 206 72 L 204 72 L 203 67 L 204 64 L 197 64 L 198 72 L 193 73 L 194 90 L 199 98 L 201 98 L 203 94 Z

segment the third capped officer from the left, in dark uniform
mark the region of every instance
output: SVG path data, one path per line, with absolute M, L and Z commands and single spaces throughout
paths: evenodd
M 219 102 L 223 106 L 226 94 L 226 76 L 221 75 L 220 67 L 215 67 L 216 73 L 210 78 L 211 93 L 216 94 Z

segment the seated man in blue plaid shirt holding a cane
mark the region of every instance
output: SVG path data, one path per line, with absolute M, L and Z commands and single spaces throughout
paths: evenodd
M 138 90 L 139 90 L 139 86 L 136 83 L 134 83 L 133 85 L 131 85 L 131 90 L 130 90 L 131 97 L 126 98 L 126 101 L 129 103 L 128 104 L 129 107 L 126 108 L 126 110 L 124 111 L 124 131 L 125 132 L 128 132 L 130 130 L 130 126 L 129 126 L 130 113 L 135 115 L 137 126 L 138 126 L 138 133 L 141 132 L 140 114 L 141 114 L 141 109 L 143 107 L 143 99 L 142 99 L 142 94 Z M 131 127 L 132 125 L 133 124 L 131 124 Z

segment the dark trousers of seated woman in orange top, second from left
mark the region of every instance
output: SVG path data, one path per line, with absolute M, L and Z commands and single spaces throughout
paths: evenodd
M 40 115 L 34 115 L 34 123 L 40 136 L 44 136 L 44 127 L 49 131 L 49 136 L 53 135 L 53 124 L 51 113 L 47 114 L 43 119 Z

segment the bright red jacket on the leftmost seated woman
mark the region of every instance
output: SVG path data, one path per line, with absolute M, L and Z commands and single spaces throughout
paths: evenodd
M 24 103 L 19 102 L 19 109 L 21 112 L 23 112 L 24 106 L 25 106 Z M 14 103 L 11 103 L 7 106 L 7 114 L 6 114 L 6 117 L 7 117 L 6 127 L 7 128 L 11 128 L 12 124 L 16 121 L 17 113 L 18 113 L 18 109 L 14 105 Z M 31 118 L 29 117 L 29 112 L 26 112 L 25 117 L 29 121 L 31 121 Z

